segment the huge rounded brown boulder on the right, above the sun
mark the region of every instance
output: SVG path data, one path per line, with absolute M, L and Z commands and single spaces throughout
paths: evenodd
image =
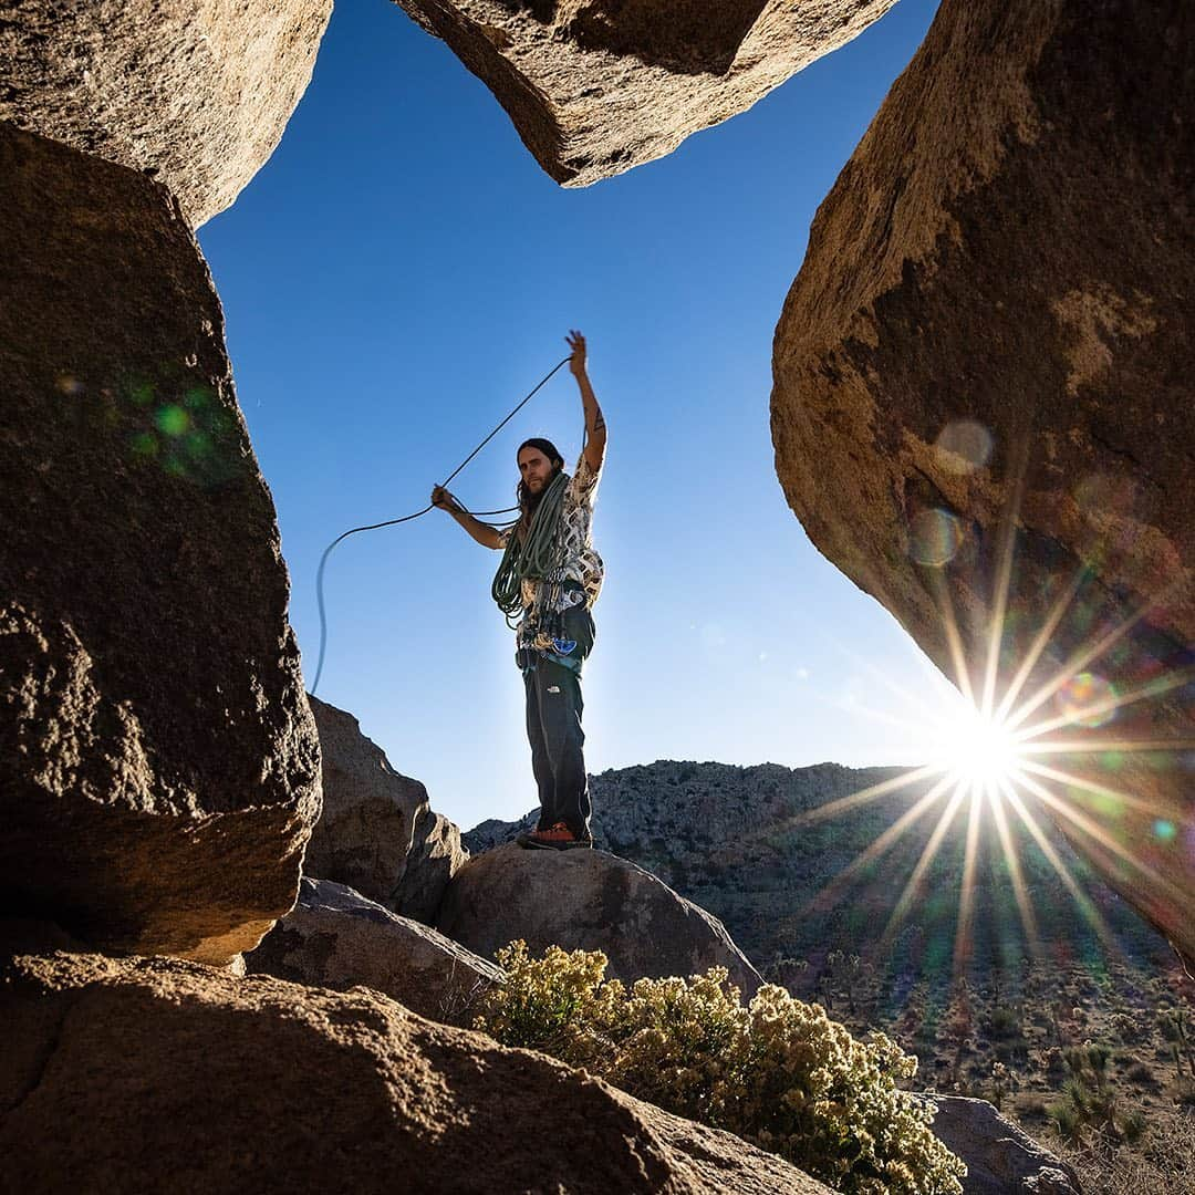
M 943 669 L 952 620 L 978 692 L 993 625 L 998 692 L 1070 661 L 1025 725 L 1068 719 L 1047 762 L 1097 788 L 1044 809 L 1188 960 L 1193 756 L 1108 744 L 1195 713 L 1193 38 L 1179 2 L 945 0 L 817 213 L 772 399 L 810 538 Z

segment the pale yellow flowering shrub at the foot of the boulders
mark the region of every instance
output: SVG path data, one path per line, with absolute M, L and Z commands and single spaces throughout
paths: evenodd
M 883 1034 L 860 1042 L 820 1005 L 766 986 L 748 1006 L 712 967 L 692 979 L 603 981 L 601 951 L 522 942 L 477 1028 L 583 1066 L 669 1111 L 736 1133 L 848 1195 L 960 1195 L 966 1166 L 933 1135 L 932 1108 L 896 1084 L 917 1059 Z

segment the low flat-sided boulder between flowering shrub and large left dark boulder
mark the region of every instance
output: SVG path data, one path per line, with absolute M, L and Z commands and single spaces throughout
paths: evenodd
M 343 884 L 304 878 L 299 903 L 245 956 L 252 974 L 337 991 L 363 983 L 413 1012 L 471 1025 L 502 968 Z

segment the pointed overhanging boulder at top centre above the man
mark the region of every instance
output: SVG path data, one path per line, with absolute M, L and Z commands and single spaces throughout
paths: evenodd
M 398 0 L 494 92 L 558 183 L 672 153 L 862 33 L 895 0 Z

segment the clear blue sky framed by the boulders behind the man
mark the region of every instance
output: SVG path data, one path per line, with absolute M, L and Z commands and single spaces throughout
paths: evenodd
M 580 327 L 609 425 L 590 771 L 924 758 L 897 723 L 919 701 L 944 709 L 944 682 L 805 538 L 776 479 L 768 394 L 814 212 L 933 10 L 901 0 L 750 111 L 568 191 L 397 6 L 337 7 L 281 146 L 200 231 L 308 685 L 325 545 L 425 505 Z M 547 435 L 571 465 L 581 427 L 562 370 L 452 489 L 509 505 L 519 442 Z M 535 804 L 497 563 L 431 511 L 350 538 L 327 569 L 319 695 L 462 827 Z

